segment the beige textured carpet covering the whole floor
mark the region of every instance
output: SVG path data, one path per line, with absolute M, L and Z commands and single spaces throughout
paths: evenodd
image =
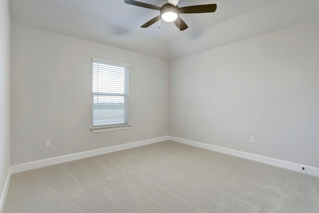
M 175 142 L 13 174 L 3 213 L 319 213 L 319 178 Z

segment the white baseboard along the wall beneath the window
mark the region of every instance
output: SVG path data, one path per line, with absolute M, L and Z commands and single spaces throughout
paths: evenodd
M 122 144 L 122 145 L 117 145 L 113 147 L 106 147 L 102 149 L 96 149 L 96 150 L 90 150 L 86 152 L 80 152 L 80 153 L 75 153 L 75 154 L 70 154 L 70 155 L 64 155 L 64 156 L 59 156 L 55 158 L 48 158 L 48 159 L 43 159 L 39 161 L 33 161 L 29 163 L 24 163 L 24 164 L 18 164 L 11 166 L 11 173 L 19 173 L 19 172 L 24 172 L 28 170 L 33 170 L 41 167 L 46 167 L 46 166 L 51 166 L 55 164 L 61 164 L 65 163 L 68 161 L 75 161 L 83 158 L 89 158 L 97 155 L 103 155 L 111 152 L 117 152 L 121 150 L 126 150 L 126 149 L 131 149 L 135 147 L 140 147 L 140 146 L 145 146 L 149 144 L 154 144 L 158 143 L 161 141 L 167 141 L 168 136 L 160 137 L 160 138 L 153 138 L 149 140 L 144 140 L 144 141 L 138 141 L 138 142 L 133 142 L 133 143 L 128 143 L 128 144 Z

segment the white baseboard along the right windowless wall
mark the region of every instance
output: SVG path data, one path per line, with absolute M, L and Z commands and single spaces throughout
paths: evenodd
M 227 155 L 232 155 L 232 156 L 236 156 L 236 157 L 240 157 L 240 158 L 244 158 L 244 159 L 248 159 L 248 160 L 252 160 L 252 161 L 257 161 L 260 163 L 269 164 L 272 166 L 281 167 L 284 169 L 288 169 L 288 170 L 292 170 L 292 171 L 296 171 L 296 172 L 300 172 L 300 173 L 305 173 L 305 174 L 307 173 L 308 175 L 319 177 L 319 168 L 316 168 L 316 167 L 292 163 L 292 162 L 288 162 L 288 161 L 282 161 L 282 160 L 269 158 L 269 157 L 265 157 L 265 156 L 261 156 L 261 155 L 255 155 L 255 154 L 251 154 L 251 153 L 247 153 L 247 152 L 241 152 L 241 151 L 237 151 L 237 150 L 227 149 L 227 148 L 223 148 L 223 147 L 199 143 L 199 142 L 185 140 L 185 139 L 171 137 L 171 136 L 169 136 L 168 138 L 170 141 L 190 145 L 193 147 L 198 147 L 198 148 L 202 148 L 202 149 L 206 149 L 206 150 L 224 153 Z M 305 170 L 303 170 L 303 168 L 305 168 Z

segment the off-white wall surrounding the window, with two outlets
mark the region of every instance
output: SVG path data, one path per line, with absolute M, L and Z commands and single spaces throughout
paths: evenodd
M 92 57 L 132 64 L 129 130 L 89 131 Z M 159 58 L 11 24 L 11 164 L 167 136 L 168 65 Z M 46 139 L 50 148 L 44 148 Z

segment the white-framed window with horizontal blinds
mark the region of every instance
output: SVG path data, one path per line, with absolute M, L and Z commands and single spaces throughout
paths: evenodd
M 92 58 L 92 131 L 128 129 L 131 64 Z

